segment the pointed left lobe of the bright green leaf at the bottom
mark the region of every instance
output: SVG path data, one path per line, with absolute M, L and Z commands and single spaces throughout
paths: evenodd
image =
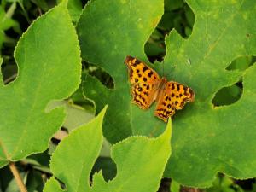
M 102 121 L 106 109 L 90 123 L 72 131 L 52 154 L 50 169 L 66 184 L 68 191 L 89 191 L 89 186 L 84 186 L 89 184 L 90 170 L 102 148 Z M 51 187 L 52 184 L 46 185 L 44 191 L 55 191 L 49 190 Z

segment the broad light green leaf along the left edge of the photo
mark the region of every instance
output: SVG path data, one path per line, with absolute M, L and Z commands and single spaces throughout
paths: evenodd
M 45 108 L 79 87 L 79 54 L 76 32 L 62 4 L 20 38 L 15 49 L 18 77 L 8 85 L 0 82 L 0 167 L 47 148 L 66 115 L 63 108 Z

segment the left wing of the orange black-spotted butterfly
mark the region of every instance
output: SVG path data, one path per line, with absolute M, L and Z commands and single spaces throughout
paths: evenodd
M 132 101 L 140 108 L 149 108 L 157 96 L 159 75 L 145 63 L 131 56 L 126 57 L 125 64 L 129 69 Z

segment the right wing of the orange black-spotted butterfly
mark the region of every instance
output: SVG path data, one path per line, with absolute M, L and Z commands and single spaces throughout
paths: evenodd
M 177 82 L 166 82 L 157 98 L 154 115 L 167 122 L 175 110 L 183 108 L 186 102 L 194 102 L 195 94 L 189 87 Z

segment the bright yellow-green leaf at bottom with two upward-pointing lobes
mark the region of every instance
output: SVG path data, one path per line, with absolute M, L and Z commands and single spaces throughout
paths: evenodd
M 105 111 L 106 108 L 96 119 L 75 129 L 62 140 L 50 163 L 54 176 L 70 192 L 155 192 L 171 154 L 171 121 L 160 137 L 129 137 L 115 144 L 112 158 L 117 165 L 116 177 L 106 183 L 102 172 L 97 172 L 90 187 L 90 170 L 102 147 L 102 121 Z M 53 177 L 44 187 L 44 192 L 48 191 L 61 191 Z

